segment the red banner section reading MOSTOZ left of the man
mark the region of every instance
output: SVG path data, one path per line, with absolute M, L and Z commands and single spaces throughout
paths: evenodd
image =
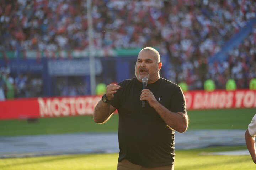
M 92 115 L 101 96 L 49 97 L 0 102 L 0 120 Z

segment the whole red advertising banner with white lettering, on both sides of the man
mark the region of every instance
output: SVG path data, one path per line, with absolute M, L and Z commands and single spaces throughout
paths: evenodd
M 190 91 L 187 109 L 256 108 L 256 91 Z M 49 97 L 0 101 L 0 120 L 91 115 L 101 96 Z

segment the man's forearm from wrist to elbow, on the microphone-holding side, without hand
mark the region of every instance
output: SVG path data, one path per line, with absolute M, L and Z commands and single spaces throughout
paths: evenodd
M 172 129 L 180 133 L 183 133 L 187 130 L 188 117 L 186 113 L 171 112 L 160 103 L 157 103 L 154 106 L 154 109 L 156 110 L 156 112 L 158 112 L 158 114 L 165 121 L 165 123 Z

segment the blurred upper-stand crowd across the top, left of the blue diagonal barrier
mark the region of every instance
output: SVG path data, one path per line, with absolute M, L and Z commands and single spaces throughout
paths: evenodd
M 87 2 L 2 0 L 1 48 L 57 51 L 88 47 Z M 186 60 L 220 50 L 255 18 L 254 0 L 93 0 L 94 45 L 102 48 L 155 46 Z

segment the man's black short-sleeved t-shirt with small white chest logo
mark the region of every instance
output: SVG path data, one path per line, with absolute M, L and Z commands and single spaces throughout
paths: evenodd
M 142 83 L 133 78 L 118 85 L 111 105 L 119 114 L 119 158 L 144 167 L 174 164 L 174 130 L 170 129 L 154 108 L 146 102 L 142 108 Z M 180 87 L 160 78 L 147 88 L 156 100 L 172 112 L 186 113 L 186 102 Z

